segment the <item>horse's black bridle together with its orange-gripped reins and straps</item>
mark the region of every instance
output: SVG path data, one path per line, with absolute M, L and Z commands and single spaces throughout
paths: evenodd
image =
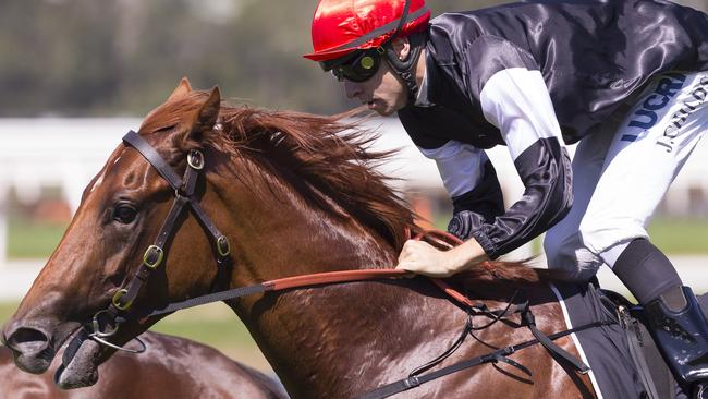
M 132 353 L 142 353 L 146 350 L 145 343 L 143 343 L 139 338 L 134 338 L 141 344 L 141 348 L 137 350 L 125 349 L 118 344 L 114 344 L 109 341 L 110 337 L 114 336 L 118 332 L 121 324 L 129 321 L 143 321 L 152 316 L 164 315 L 173 313 L 179 310 L 194 307 L 211 302 L 233 300 L 251 294 L 265 293 L 269 291 L 283 291 L 289 289 L 301 289 L 301 288 L 313 288 L 317 286 L 333 285 L 333 283 L 343 283 L 343 282 L 353 282 L 353 281 L 366 281 L 366 280 L 380 280 L 380 279 L 400 279 L 404 276 L 410 275 L 410 273 L 400 269 L 358 269 L 358 270 L 342 270 L 342 271 L 327 271 L 318 273 L 312 275 L 285 277 L 269 281 L 264 281 L 261 283 L 256 283 L 247 287 L 239 287 L 230 290 L 212 292 L 209 294 L 187 299 L 181 302 L 173 302 L 168 304 L 162 309 L 156 310 L 134 310 L 133 304 L 137 298 L 141 288 L 147 282 L 151 273 L 157 269 L 162 263 L 166 254 L 166 245 L 169 240 L 176 232 L 176 222 L 180 216 L 183 214 L 186 207 L 190 207 L 194 216 L 199 220 L 199 223 L 205 229 L 208 235 L 210 235 L 215 257 L 218 268 L 218 275 L 215 280 L 215 286 L 220 283 L 219 281 L 228 281 L 229 276 L 232 270 L 232 259 L 231 259 L 231 249 L 229 239 L 222 234 L 211 219 L 206 215 L 204 209 L 198 203 L 198 197 L 195 195 L 196 182 L 200 176 L 200 171 L 204 169 L 205 159 L 202 152 L 198 149 L 192 149 L 187 154 L 187 167 L 184 171 L 183 178 L 180 178 L 170 165 L 158 154 L 158 152 L 147 143 L 139 134 L 134 131 L 127 132 L 123 136 L 123 143 L 126 146 L 131 146 L 138 150 L 143 157 L 158 171 L 158 173 L 167 180 L 170 186 L 174 190 L 174 202 L 172 208 L 170 209 L 160 231 L 152 245 L 148 246 L 143 255 L 143 262 L 139 265 L 135 275 L 131 280 L 123 287 L 120 288 L 111 298 L 111 303 L 105 310 L 97 312 L 90 323 L 85 324 L 80 331 L 74 336 L 72 341 L 69 343 L 68 348 L 64 350 L 62 363 L 63 366 L 68 366 L 73 356 L 76 354 L 78 348 L 86 339 L 91 339 L 100 344 L 113 348 L 115 350 L 132 352 Z M 449 245 L 450 242 L 453 244 L 459 244 L 462 241 L 456 237 L 442 231 L 427 231 L 415 239 L 428 239 L 432 240 L 439 245 Z M 484 266 L 484 265 L 483 265 Z M 589 367 L 583 362 L 575 359 L 572 354 L 563 350 L 553 343 L 553 340 L 579 331 L 583 329 L 597 327 L 607 324 L 617 323 L 614 321 L 601 321 L 587 325 L 583 325 L 573 329 L 565 331 L 560 331 L 551 335 L 546 335 L 536 327 L 534 315 L 530 311 L 528 301 L 521 302 L 521 304 L 512 304 L 516 292 L 513 298 L 510 299 L 509 304 L 505 309 L 499 311 L 488 310 L 484 303 L 473 303 L 467 297 L 463 295 L 447 282 L 441 279 L 430 278 L 430 281 L 444 291 L 450 298 L 457 302 L 468 314 L 467 323 L 465 324 L 462 334 L 457 340 L 443 352 L 438 358 L 432 361 L 417 367 L 407 378 L 400 379 L 395 383 L 391 383 L 379 387 L 377 389 L 365 392 L 359 398 L 365 399 L 375 399 L 375 398 L 386 398 L 395 394 L 399 394 L 404 390 L 408 390 L 419 386 L 420 384 L 427 383 L 429 380 L 442 377 L 444 375 L 459 372 L 462 370 L 469 368 L 475 365 L 480 365 L 484 363 L 498 363 L 504 362 L 510 364 L 524 374 L 528 376 L 532 375 L 528 368 L 518 364 L 517 362 L 508 358 L 508 355 L 514 353 L 515 351 L 540 343 L 542 344 L 558 362 L 570 365 L 572 368 L 576 370 L 582 374 L 589 372 Z M 213 288 L 213 287 L 212 287 Z M 509 316 L 513 313 L 520 313 L 522 322 L 526 325 L 532 334 L 534 339 L 509 346 L 505 348 L 497 349 L 490 353 L 487 353 L 481 356 L 469 359 L 455 363 L 451 366 L 439 368 L 435 372 L 424 374 L 426 371 L 432 368 L 434 366 L 441 363 L 444 359 L 451 355 L 464 341 L 464 339 L 471 335 L 471 331 L 484 329 L 492 324 L 503 319 L 505 316 Z M 475 315 L 485 315 L 491 318 L 491 322 L 481 326 L 474 327 L 472 324 L 472 317 Z

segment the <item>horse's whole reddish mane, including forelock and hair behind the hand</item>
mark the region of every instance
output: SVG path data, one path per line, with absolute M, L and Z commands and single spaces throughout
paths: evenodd
M 193 90 L 152 110 L 141 125 L 152 134 L 178 125 L 185 112 L 208 97 Z M 374 169 L 396 150 L 374 152 L 377 134 L 351 120 L 358 109 L 335 116 L 232 107 L 221 105 L 217 126 L 204 141 L 236 157 L 248 156 L 260 167 L 286 179 L 306 200 L 340 218 L 356 218 L 375 229 L 400 251 L 415 226 L 416 215 Z M 180 143 L 174 143 L 179 148 Z M 190 143 L 196 147 L 200 143 Z M 176 149 L 175 148 L 175 149 Z M 304 184 L 307 182 L 307 184 Z M 536 282 L 551 276 L 525 262 L 485 262 L 465 273 L 466 278 Z

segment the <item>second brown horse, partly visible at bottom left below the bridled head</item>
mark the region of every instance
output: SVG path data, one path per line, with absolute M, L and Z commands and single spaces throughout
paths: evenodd
M 179 337 L 147 331 L 141 336 L 147 351 L 141 355 L 117 353 L 100 366 L 101 377 L 91 387 L 57 388 L 52 373 L 34 376 L 12 362 L 0 347 L 0 387 L 3 399 L 71 398 L 239 398 L 284 399 L 280 385 L 253 368 L 239 364 L 213 348 Z M 133 347 L 131 344 L 131 347 Z

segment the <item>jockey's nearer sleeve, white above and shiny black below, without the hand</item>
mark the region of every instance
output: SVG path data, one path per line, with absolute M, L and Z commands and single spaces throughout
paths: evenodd
M 570 210 L 572 171 L 550 95 L 538 70 L 505 69 L 480 93 L 485 118 L 499 128 L 525 186 L 521 200 L 472 235 L 489 257 L 541 234 Z

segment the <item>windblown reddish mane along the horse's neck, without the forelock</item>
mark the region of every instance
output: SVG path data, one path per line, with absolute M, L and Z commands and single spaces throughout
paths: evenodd
M 374 169 L 394 152 L 369 150 L 376 135 L 362 129 L 361 122 L 345 122 L 351 114 L 222 108 L 220 137 L 229 138 L 231 150 L 247 152 L 279 176 L 294 178 L 290 183 L 315 205 L 342 218 L 356 218 L 400 250 L 414 215 L 386 184 L 388 178 Z

